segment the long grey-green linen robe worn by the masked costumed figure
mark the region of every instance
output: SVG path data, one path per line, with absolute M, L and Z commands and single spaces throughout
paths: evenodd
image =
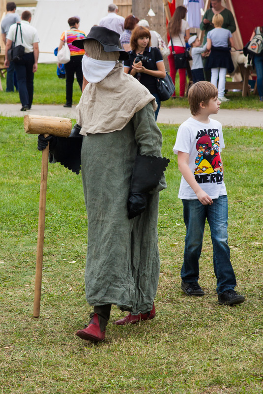
M 83 137 L 82 178 L 88 212 L 86 298 L 90 305 L 116 304 L 132 314 L 151 310 L 160 259 L 157 218 L 162 177 L 145 212 L 128 219 L 127 200 L 136 155 L 161 156 L 162 135 L 152 104 L 122 130 Z

